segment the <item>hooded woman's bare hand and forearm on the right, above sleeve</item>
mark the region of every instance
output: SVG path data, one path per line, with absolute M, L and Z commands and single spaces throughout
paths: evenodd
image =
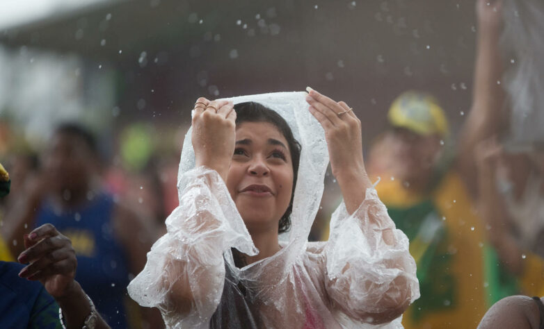
M 371 183 L 362 159 L 361 121 L 343 101 L 336 102 L 307 88 L 310 113 L 325 130 L 330 167 L 338 180 L 346 209 L 355 212 Z

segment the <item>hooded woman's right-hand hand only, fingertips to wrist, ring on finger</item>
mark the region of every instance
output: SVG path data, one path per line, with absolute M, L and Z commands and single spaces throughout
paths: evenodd
M 330 167 L 338 179 L 342 175 L 365 173 L 362 160 L 361 121 L 343 101 L 332 99 L 308 88 L 306 101 L 310 112 L 325 130 Z

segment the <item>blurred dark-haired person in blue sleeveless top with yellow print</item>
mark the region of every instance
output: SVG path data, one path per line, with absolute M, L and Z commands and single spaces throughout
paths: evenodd
M 126 287 L 145 264 L 154 229 L 104 192 L 95 137 L 77 124 L 58 126 L 45 149 L 43 168 L 4 219 L 13 255 L 32 228 L 52 223 L 77 254 L 77 280 L 113 328 L 127 328 Z M 157 313 L 143 311 L 152 328 Z M 131 317 L 132 319 L 132 317 Z

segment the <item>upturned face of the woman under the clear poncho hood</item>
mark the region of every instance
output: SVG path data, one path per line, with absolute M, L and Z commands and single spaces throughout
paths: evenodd
M 237 126 L 227 187 L 250 232 L 278 230 L 291 201 L 293 165 L 287 140 L 276 126 Z

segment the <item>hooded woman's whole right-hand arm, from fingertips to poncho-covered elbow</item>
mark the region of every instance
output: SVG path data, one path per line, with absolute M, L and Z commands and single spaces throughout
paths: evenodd
M 306 100 L 325 130 L 330 166 L 342 190 L 346 212 L 342 214 L 341 209 L 333 215 L 339 222 L 331 221 L 326 246 L 328 295 L 354 319 L 374 324 L 392 321 L 419 294 L 408 239 L 395 229 L 371 189 L 362 156 L 361 124 L 353 110 L 311 88 Z M 350 249 L 348 244 L 362 240 L 365 246 Z M 387 255 L 390 249 L 398 251 L 394 257 Z M 381 282 L 371 279 L 378 276 L 383 278 Z

